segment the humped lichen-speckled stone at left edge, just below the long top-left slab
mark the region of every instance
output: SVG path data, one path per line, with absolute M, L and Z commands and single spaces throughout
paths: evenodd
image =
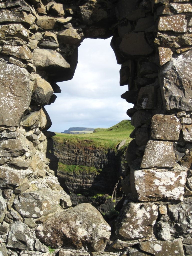
M 29 40 L 29 33 L 21 24 L 13 23 L 0 26 L 0 37 L 16 36 L 25 40 Z

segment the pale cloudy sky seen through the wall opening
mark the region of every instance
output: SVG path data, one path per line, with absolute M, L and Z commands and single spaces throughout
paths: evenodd
M 84 39 L 78 48 L 78 64 L 72 80 L 60 82 L 61 93 L 45 106 L 52 126 L 63 132 L 70 127 L 109 128 L 123 119 L 132 104 L 121 99 L 128 86 L 119 85 L 121 65 L 110 47 L 111 38 Z

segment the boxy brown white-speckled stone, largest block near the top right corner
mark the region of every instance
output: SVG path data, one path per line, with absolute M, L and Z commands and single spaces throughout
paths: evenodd
M 159 18 L 158 30 L 174 32 L 186 32 L 187 20 L 185 15 L 164 16 Z

